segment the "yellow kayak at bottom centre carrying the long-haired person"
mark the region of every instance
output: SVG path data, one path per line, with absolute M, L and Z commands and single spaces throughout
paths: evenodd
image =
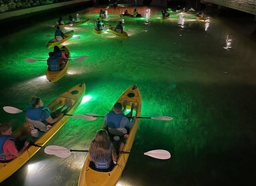
M 140 96 L 140 91 L 137 86 L 130 86 L 124 93 L 118 98 L 116 102 L 124 102 L 126 101 L 127 106 L 126 108 L 130 109 L 131 104 L 134 103 L 136 105 L 136 108 L 134 110 L 136 111 L 136 116 L 140 116 L 140 110 L 142 106 L 142 98 Z M 113 109 L 113 108 L 112 108 Z M 130 152 L 132 149 L 132 143 L 134 142 L 135 134 L 138 128 L 138 121 L 136 120 L 134 123 L 134 126 L 130 129 L 129 136 L 126 140 L 126 143 L 124 145 L 123 151 Z M 102 125 L 102 128 L 104 127 L 104 124 Z M 80 171 L 79 186 L 109 186 L 109 185 L 116 185 L 118 182 L 118 179 L 122 175 L 122 171 L 124 171 L 124 167 L 126 165 L 126 162 L 128 161 L 129 153 L 120 153 L 118 161 L 116 163 L 116 166 L 112 171 L 108 172 L 100 172 L 95 171 L 89 167 L 89 156 L 87 155 L 86 160 L 84 161 L 84 165 L 82 167 L 82 170 Z

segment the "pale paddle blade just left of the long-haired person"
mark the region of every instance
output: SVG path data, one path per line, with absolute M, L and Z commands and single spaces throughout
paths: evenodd
M 69 149 L 57 145 L 49 145 L 45 147 L 45 153 L 49 155 L 56 155 L 61 158 L 66 158 L 71 155 L 71 152 Z

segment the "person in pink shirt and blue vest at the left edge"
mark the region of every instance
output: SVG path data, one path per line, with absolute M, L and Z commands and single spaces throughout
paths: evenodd
M 12 127 L 9 123 L 0 124 L 0 163 L 7 163 L 21 155 L 29 141 L 25 141 L 21 149 L 17 149 L 15 145 L 15 138 L 12 135 Z

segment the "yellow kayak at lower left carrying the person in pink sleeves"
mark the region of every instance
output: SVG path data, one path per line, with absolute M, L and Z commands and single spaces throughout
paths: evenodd
M 53 102 L 51 102 L 48 106 L 50 110 L 55 110 L 57 106 L 58 108 L 63 106 L 65 99 L 68 99 L 72 102 L 72 106 L 70 107 L 70 110 L 66 112 L 66 114 L 73 114 L 76 108 L 78 108 L 79 104 L 82 102 L 84 92 L 85 84 L 82 82 L 61 94 L 61 96 L 53 100 Z M 49 141 L 59 131 L 59 129 L 69 118 L 70 116 L 63 116 L 49 130 L 47 130 L 47 132 L 39 132 L 39 138 L 35 138 L 33 143 L 36 145 L 45 145 L 45 143 L 47 143 L 47 141 Z M 18 138 L 26 132 L 30 132 L 29 122 L 25 122 L 22 126 L 17 128 L 17 130 L 13 132 L 13 136 Z M 33 157 L 33 155 L 39 151 L 39 149 L 40 147 L 31 145 L 16 159 L 13 159 L 9 163 L 0 163 L 0 183 L 15 173 L 15 171 L 17 171 L 27 161 L 29 161 L 29 159 L 31 159 L 31 157 Z

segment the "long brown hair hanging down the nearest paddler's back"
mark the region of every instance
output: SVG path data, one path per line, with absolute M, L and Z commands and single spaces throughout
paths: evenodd
M 112 142 L 106 130 L 98 130 L 94 140 L 90 143 L 89 153 L 92 161 L 107 161 L 112 159 Z

